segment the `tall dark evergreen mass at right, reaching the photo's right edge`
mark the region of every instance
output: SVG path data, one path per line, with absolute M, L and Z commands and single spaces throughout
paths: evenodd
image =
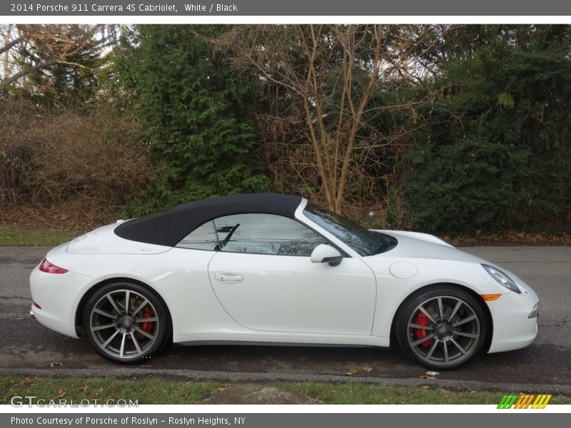
M 567 28 L 541 27 L 443 65 L 403 181 L 415 228 L 571 226 L 569 45 Z

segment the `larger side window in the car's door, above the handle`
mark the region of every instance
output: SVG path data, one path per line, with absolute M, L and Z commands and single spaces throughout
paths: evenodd
M 214 220 L 218 250 L 229 253 L 300 255 L 309 257 L 326 241 L 290 218 L 271 214 L 236 214 Z

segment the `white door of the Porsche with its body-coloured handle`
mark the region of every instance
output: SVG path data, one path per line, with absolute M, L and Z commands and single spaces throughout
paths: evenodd
M 243 280 L 224 282 L 224 272 Z M 370 335 L 373 327 L 375 277 L 357 258 L 331 267 L 308 257 L 218 252 L 208 273 L 221 305 L 251 330 Z

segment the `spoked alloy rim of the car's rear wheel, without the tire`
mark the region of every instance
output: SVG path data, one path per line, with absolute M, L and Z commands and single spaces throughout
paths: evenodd
M 113 290 L 97 300 L 89 328 L 103 352 L 131 360 L 153 347 L 160 325 L 155 307 L 145 296 L 134 290 Z

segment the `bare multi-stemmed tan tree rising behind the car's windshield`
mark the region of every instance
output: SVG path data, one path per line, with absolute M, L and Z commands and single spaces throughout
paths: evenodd
M 438 45 L 427 31 L 251 25 L 233 27 L 215 43 L 231 49 L 237 67 L 250 69 L 274 91 L 268 98 L 271 113 L 262 112 L 258 120 L 264 158 L 276 177 L 288 188 L 297 182 L 308 196 L 340 213 L 348 198 L 358 197 L 355 191 L 378 197 L 375 180 L 393 180 L 389 165 L 408 150 L 404 141 L 411 130 L 423 126 L 415 113 L 423 101 L 400 101 L 398 93 L 423 67 L 415 63 L 416 53 L 428 55 Z M 393 98 L 377 99 L 380 91 Z M 410 123 L 393 120 L 396 112 L 398 121 Z M 380 129 L 380 118 L 393 124 Z

